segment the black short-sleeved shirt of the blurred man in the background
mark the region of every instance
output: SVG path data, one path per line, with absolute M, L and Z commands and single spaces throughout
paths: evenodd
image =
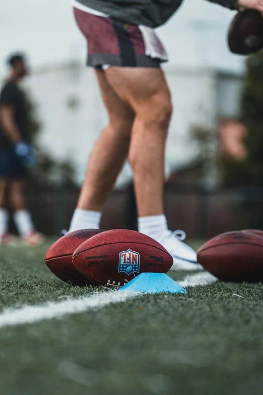
M 14 108 L 14 118 L 23 139 L 27 140 L 27 108 L 24 92 L 12 81 L 7 81 L 0 93 L 0 107 L 3 105 Z M 0 119 L 0 149 L 12 147 Z

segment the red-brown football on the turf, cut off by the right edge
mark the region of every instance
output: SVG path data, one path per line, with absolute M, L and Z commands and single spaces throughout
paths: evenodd
M 199 263 L 223 281 L 263 280 L 263 235 L 260 231 L 228 232 L 198 250 Z

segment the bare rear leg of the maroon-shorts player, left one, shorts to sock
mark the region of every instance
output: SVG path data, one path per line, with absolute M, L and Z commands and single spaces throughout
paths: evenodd
M 105 72 L 96 70 L 108 126 L 100 134 L 89 158 L 78 208 L 101 211 L 128 155 L 134 111 L 108 84 Z

